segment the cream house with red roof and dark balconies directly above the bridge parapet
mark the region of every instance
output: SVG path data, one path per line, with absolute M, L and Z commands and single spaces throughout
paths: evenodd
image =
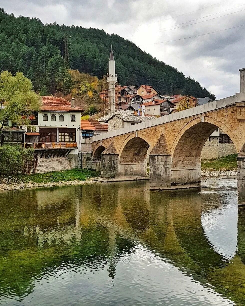
M 174 108 L 174 104 L 169 99 L 153 99 L 142 104 L 145 106 L 145 115 L 165 116 Z

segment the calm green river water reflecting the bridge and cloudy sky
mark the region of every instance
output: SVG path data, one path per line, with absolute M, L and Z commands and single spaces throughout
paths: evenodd
M 1 305 L 244 305 L 236 180 L 0 193 Z

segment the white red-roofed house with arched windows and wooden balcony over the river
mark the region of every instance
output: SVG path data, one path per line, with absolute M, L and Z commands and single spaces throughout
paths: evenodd
M 41 108 L 29 118 L 25 130 L 25 147 L 64 149 L 77 154 L 80 144 L 81 109 L 62 97 L 40 97 Z

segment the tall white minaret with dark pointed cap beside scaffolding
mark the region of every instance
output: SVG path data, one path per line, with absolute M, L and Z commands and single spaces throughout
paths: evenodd
M 109 71 L 107 76 L 108 83 L 108 114 L 113 114 L 116 111 L 116 82 L 115 60 L 111 45 L 111 54 L 109 58 Z

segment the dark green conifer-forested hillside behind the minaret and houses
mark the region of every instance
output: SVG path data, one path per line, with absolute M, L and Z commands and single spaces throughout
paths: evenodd
M 69 94 L 73 81 L 68 69 L 99 78 L 107 73 L 113 45 L 121 85 L 149 84 L 162 94 L 215 96 L 172 66 L 154 59 L 129 40 L 94 28 L 43 25 L 39 19 L 14 17 L 0 9 L 0 70 L 22 71 L 36 91 Z

